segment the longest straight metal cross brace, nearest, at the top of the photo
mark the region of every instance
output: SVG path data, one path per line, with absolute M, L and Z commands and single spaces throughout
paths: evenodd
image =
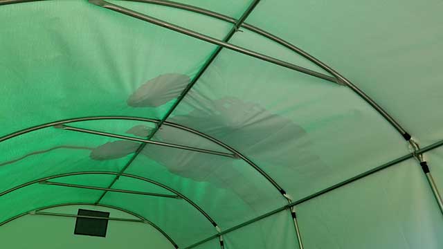
M 269 57 L 267 55 L 263 55 L 261 53 L 257 53 L 257 52 L 255 52 L 253 50 L 249 50 L 247 48 L 242 48 L 240 46 L 236 46 L 236 45 L 230 44 L 228 42 L 223 42 L 223 41 L 221 41 L 219 39 L 215 39 L 213 37 L 209 37 L 207 35 L 204 35 L 204 34 L 197 33 L 195 31 L 189 30 L 188 28 L 183 28 L 181 26 L 170 24 L 167 21 L 162 21 L 160 19 L 156 19 L 156 18 L 150 17 L 148 15 L 143 15 L 143 14 L 141 14 L 139 12 L 134 11 L 134 10 L 129 10 L 127 8 L 123 8 L 122 6 L 115 5 L 113 3 L 108 3 L 107 1 L 89 0 L 89 2 L 95 4 L 96 6 L 100 6 L 102 8 L 107 8 L 109 10 L 120 12 L 123 15 L 128 15 L 130 17 L 134 17 L 134 18 L 140 19 L 142 21 L 147 21 L 147 22 L 149 22 L 151 24 L 154 24 L 156 26 L 161 26 L 163 28 L 168 28 L 170 30 L 176 31 L 176 32 L 181 33 L 183 35 L 188 35 L 190 37 L 194 37 L 196 39 L 200 39 L 200 40 L 202 40 L 204 42 L 209 42 L 211 44 L 215 44 L 215 45 L 218 45 L 218 46 L 221 46 L 221 47 L 224 47 L 224 48 L 228 48 L 228 49 L 234 50 L 234 51 L 236 51 L 238 53 L 242 53 L 244 55 L 255 57 L 257 59 L 261 59 L 261 60 L 264 60 L 266 62 L 270 62 L 272 64 L 276 64 L 278 66 L 283 66 L 285 68 L 289 68 L 289 69 L 292 69 L 294 71 L 298 71 L 300 73 L 305 73 L 307 75 L 318 77 L 318 78 L 321 78 L 323 80 L 327 80 L 329 82 L 333 82 L 335 84 L 341 84 L 341 83 L 338 83 L 338 80 L 336 79 L 336 77 L 325 75 L 323 73 L 318 73 L 318 72 L 312 71 L 312 70 L 310 70 L 308 68 L 304 68 L 302 66 L 297 66 L 297 65 L 291 64 L 289 62 L 284 62 L 284 61 L 282 61 L 280 59 L 276 59 L 274 57 Z

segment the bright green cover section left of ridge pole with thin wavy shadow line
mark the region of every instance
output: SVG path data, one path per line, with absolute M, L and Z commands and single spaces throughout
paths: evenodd
M 100 146 L 115 142 L 118 141 L 113 138 L 52 127 L 1 142 L 0 190 L 56 174 L 119 172 L 129 156 L 100 160 L 104 153 Z

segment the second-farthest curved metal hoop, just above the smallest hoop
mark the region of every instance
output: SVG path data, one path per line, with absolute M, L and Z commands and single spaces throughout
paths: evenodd
M 22 183 L 21 185 L 18 185 L 16 187 L 12 187 L 9 190 L 5 190 L 5 191 L 1 192 L 0 196 L 3 196 L 3 195 L 8 194 L 10 192 L 14 192 L 15 190 L 19 190 L 19 189 L 21 189 L 23 187 L 26 187 L 28 185 L 33 185 L 35 183 L 39 183 L 40 181 L 46 181 L 46 180 L 50 180 L 50 179 L 53 179 L 53 178 L 59 178 L 59 177 L 64 177 L 64 176 L 78 176 L 78 175 L 87 175 L 87 174 L 108 174 L 108 175 L 117 176 L 119 173 L 118 172 L 93 172 L 93 171 L 91 171 L 91 172 L 72 172 L 72 173 L 56 174 L 56 175 L 53 175 L 53 176 L 46 176 L 44 178 L 39 178 L 39 179 L 36 179 L 36 180 L 33 180 L 33 181 L 28 181 L 27 183 Z M 196 203 L 191 201 L 188 197 L 184 196 L 180 192 L 177 192 L 177 190 L 174 190 L 171 187 L 168 187 L 166 185 L 158 183 L 158 182 L 156 182 L 154 180 L 151 180 L 149 178 L 145 178 L 143 176 L 136 176 L 136 175 L 133 175 L 133 174 L 125 174 L 125 173 L 120 174 L 120 176 L 126 176 L 126 177 L 129 177 L 129 178 L 135 178 L 135 179 L 138 179 L 138 180 L 141 180 L 141 181 L 145 181 L 147 183 L 152 183 L 152 184 L 157 185 L 159 187 L 163 187 L 165 190 L 173 192 L 174 194 L 177 194 L 178 196 L 181 197 L 181 199 L 187 201 L 190 205 L 192 205 L 192 207 L 194 207 L 201 214 L 203 214 L 206 217 L 206 219 L 208 219 L 208 221 L 210 221 L 210 223 L 212 223 L 213 225 L 215 224 L 215 221 L 209 216 L 209 214 L 207 214 L 203 209 L 201 209 L 199 207 L 199 205 L 197 205 Z

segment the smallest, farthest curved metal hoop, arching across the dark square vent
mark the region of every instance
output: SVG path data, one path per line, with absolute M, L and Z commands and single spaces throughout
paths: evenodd
M 175 243 L 175 241 L 165 231 L 163 231 L 161 228 L 159 228 L 158 225 L 155 225 L 154 223 L 152 223 L 152 221 L 146 219 L 145 217 L 141 216 L 140 214 L 136 214 L 135 212 L 132 212 L 132 211 L 129 211 L 129 210 L 125 210 L 124 208 L 119 208 L 119 207 L 114 206 L 114 205 L 106 205 L 106 204 L 95 204 L 94 205 L 94 203 L 64 203 L 64 204 L 48 205 L 48 206 L 44 206 L 42 208 L 37 208 L 37 209 L 33 209 L 33 210 L 40 211 L 40 210 L 46 210 L 48 208 L 57 208 L 57 207 L 64 207 L 64 206 L 69 206 L 69 205 L 93 205 L 93 206 L 98 206 L 98 207 L 103 207 L 103 208 L 111 208 L 111 209 L 114 209 L 114 210 L 125 212 L 127 214 L 132 215 L 132 216 L 136 216 L 138 219 L 141 219 L 141 220 L 145 221 L 145 223 L 151 225 L 153 228 L 155 228 L 161 234 L 163 234 L 163 236 L 166 239 L 168 239 L 168 241 L 170 241 L 170 243 L 172 243 L 172 246 L 174 246 L 175 248 L 179 248 L 179 246 L 177 246 L 177 243 Z M 10 219 L 7 219 L 6 221 L 1 222 L 0 226 L 1 225 L 5 225 L 6 223 L 9 223 L 10 221 L 14 221 L 15 219 L 19 219 L 20 217 L 25 216 L 26 214 L 28 214 L 30 211 L 33 211 L 33 210 L 29 210 L 28 212 L 23 212 L 21 214 L 13 216 Z

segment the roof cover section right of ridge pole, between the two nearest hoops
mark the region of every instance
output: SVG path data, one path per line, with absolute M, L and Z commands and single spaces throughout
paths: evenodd
M 230 50 L 221 51 L 171 120 L 233 146 L 293 199 L 408 151 L 347 87 Z

